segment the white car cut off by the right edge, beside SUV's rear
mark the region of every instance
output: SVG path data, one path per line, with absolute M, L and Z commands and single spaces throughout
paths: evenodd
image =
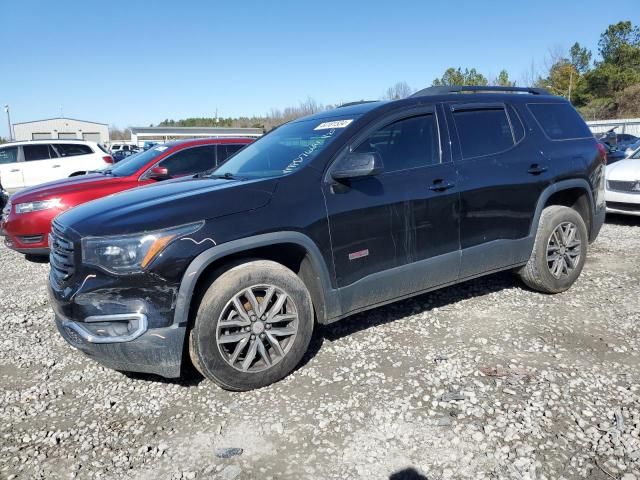
M 640 148 L 607 166 L 607 212 L 640 216 Z

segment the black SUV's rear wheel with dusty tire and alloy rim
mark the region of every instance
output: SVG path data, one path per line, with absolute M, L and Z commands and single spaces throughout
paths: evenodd
M 570 240 L 572 228 L 575 228 L 573 241 Z M 575 245 L 576 240 L 579 245 Z M 543 293 L 564 292 L 582 272 L 587 258 L 587 244 L 587 227 L 578 212 L 560 205 L 547 207 L 540 216 L 531 257 L 517 274 L 533 290 Z

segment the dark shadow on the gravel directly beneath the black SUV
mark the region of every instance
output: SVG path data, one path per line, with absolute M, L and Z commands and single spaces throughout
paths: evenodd
M 406 300 L 390 303 L 383 307 L 368 310 L 366 312 L 357 313 L 329 325 L 317 325 L 314 329 L 307 352 L 294 371 L 304 368 L 305 365 L 307 365 L 318 354 L 325 340 L 334 342 L 354 333 L 379 325 L 385 325 L 410 315 L 428 312 L 434 308 L 441 308 L 465 299 L 481 297 L 508 288 L 523 287 L 521 287 L 511 272 L 499 272 L 481 278 L 468 280 L 451 287 L 434 290 Z M 372 314 L 372 312 L 375 314 Z M 195 367 L 193 367 L 193 365 L 191 365 L 188 353 L 186 352 L 186 345 L 184 350 L 185 352 L 182 362 L 183 370 L 179 378 L 164 378 L 147 373 L 121 373 L 128 378 L 135 380 L 167 383 L 183 387 L 195 387 L 205 380 L 205 378 L 195 369 Z

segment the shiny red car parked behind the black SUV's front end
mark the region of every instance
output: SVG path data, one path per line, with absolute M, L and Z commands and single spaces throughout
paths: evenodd
M 215 138 L 156 145 L 111 168 L 22 190 L 10 197 L 2 212 L 5 244 L 20 253 L 47 255 L 51 221 L 60 212 L 130 188 L 204 172 L 252 141 Z

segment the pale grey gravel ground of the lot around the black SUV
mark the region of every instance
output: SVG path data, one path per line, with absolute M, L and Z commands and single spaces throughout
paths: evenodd
M 639 252 L 608 218 L 566 293 L 501 273 L 399 302 L 229 393 L 85 358 L 48 265 L 0 247 L 0 478 L 640 480 Z

